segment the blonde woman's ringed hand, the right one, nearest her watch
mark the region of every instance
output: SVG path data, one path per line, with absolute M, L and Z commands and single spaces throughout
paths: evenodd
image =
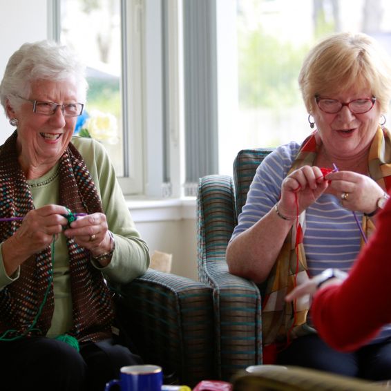
M 384 191 L 367 175 L 354 171 L 336 171 L 326 175 L 330 180 L 329 190 L 341 200 L 345 209 L 371 213 Z

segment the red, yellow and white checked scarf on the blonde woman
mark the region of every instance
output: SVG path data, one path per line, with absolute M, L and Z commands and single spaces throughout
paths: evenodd
M 289 173 L 305 165 L 312 166 L 318 149 L 314 132 L 303 142 Z M 370 146 L 368 169 L 370 178 L 383 190 L 391 189 L 391 135 L 385 128 L 379 127 L 376 131 Z M 365 216 L 362 227 L 367 237 L 374 230 L 372 221 Z M 263 343 L 266 347 L 274 343 L 284 346 L 292 338 L 314 332 L 314 329 L 306 324 L 309 298 L 301 298 L 291 304 L 285 302 L 287 293 L 309 278 L 303 246 L 304 231 L 305 212 L 301 213 L 298 224 L 295 223 L 289 231 L 267 278 L 262 312 Z M 364 242 L 361 240 L 361 247 L 363 245 Z

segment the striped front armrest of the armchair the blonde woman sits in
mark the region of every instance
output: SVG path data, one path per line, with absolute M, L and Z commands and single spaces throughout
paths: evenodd
M 249 365 L 262 363 L 261 298 L 249 280 L 229 274 L 224 260 L 206 264 L 213 287 L 218 375 L 228 381 Z

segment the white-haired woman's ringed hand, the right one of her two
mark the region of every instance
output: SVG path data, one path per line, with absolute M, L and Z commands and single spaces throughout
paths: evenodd
M 70 228 L 64 231 L 64 235 L 90 250 L 94 257 L 111 251 L 112 243 L 104 213 L 78 217 L 70 223 Z

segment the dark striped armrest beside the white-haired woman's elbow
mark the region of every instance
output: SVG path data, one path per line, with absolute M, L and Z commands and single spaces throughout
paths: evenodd
M 211 287 L 149 269 L 117 292 L 122 325 L 146 363 L 189 386 L 213 378 Z

